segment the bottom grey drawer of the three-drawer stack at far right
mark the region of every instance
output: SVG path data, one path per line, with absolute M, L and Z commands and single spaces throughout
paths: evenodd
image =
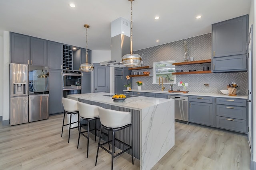
M 216 127 L 246 133 L 246 121 L 230 119 L 228 117 L 216 117 Z

